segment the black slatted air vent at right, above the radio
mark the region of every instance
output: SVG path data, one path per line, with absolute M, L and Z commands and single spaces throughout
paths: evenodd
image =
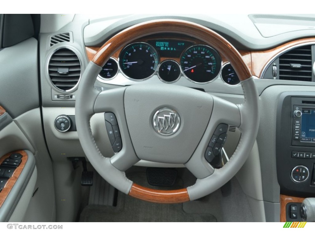
M 312 81 L 311 45 L 294 48 L 279 57 L 279 79 Z

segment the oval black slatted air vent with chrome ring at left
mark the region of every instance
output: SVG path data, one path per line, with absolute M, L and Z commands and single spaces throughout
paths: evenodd
M 60 48 L 50 57 L 48 73 L 55 87 L 63 91 L 68 91 L 74 88 L 80 80 L 80 59 L 71 49 Z

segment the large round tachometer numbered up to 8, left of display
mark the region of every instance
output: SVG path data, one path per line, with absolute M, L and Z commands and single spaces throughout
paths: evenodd
M 157 51 L 144 42 L 129 44 L 119 54 L 119 67 L 123 74 L 133 80 L 145 80 L 157 70 Z

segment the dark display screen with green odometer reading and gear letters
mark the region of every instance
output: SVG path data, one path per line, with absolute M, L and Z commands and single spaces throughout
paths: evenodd
M 193 44 L 189 41 L 174 39 L 149 40 L 148 43 L 158 51 L 161 57 L 180 57 L 180 54 Z

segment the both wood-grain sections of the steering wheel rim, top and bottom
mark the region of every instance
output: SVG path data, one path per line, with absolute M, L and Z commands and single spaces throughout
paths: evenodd
M 119 48 L 140 37 L 157 33 L 188 34 L 198 38 L 217 49 L 231 63 L 240 81 L 245 81 L 252 76 L 241 55 L 226 39 L 206 27 L 182 20 L 153 20 L 131 26 L 109 39 L 97 51 L 91 62 L 102 67 Z M 180 203 L 190 200 L 187 188 L 164 191 L 145 188 L 136 183 L 132 183 L 129 195 L 158 203 Z

